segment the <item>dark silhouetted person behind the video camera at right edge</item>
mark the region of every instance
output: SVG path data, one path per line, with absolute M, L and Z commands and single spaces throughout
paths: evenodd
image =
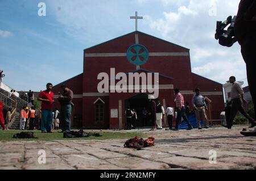
M 234 24 L 234 33 L 241 45 L 245 60 L 247 81 L 256 109 L 256 0 L 241 0 Z M 252 125 L 253 126 L 253 125 Z

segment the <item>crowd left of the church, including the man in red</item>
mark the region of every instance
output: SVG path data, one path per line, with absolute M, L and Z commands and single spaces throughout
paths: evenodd
M 20 130 L 34 130 L 39 129 L 42 133 L 52 133 L 54 129 L 59 129 L 61 124 L 61 132 L 71 131 L 71 112 L 74 104 L 72 103 L 73 92 L 66 85 L 61 85 L 63 92 L 59 92 L 58 101 L 61 106 L 59 111 L 57 108 L 52 110 L 54 100 L 52 92 L 52 83 L 47 83 L 46 90 L 41 91 L 38 100 L 42 102 L 40 109 L 35 109 L 34 106 L 29 106 L 31 104 L 25 104 L 20 110 L 19 114 L 19 129 Z M 15 91 L 12 90 L 12 93 Z M 28 95 L 28 96 L 25 96 Z M 9 97 L 13 94 L 9 94 Z M 20 98 L 26 100 L 28 103 L 34 104 L 34 92 L 31 90 L 28 94 L 22 94 Z M 3 117 L 3 100 L 0 100 L 0 125 L 3 130 L 8 129 L 9 123 L 11 121 L 11 111 L 6 113 L 6 119 Z M 60 118 L 61 117 L 61 121 Z M 5 125 L 6 122 L 6 125 Z M 28 126 L 27 126 L 28 125 Z

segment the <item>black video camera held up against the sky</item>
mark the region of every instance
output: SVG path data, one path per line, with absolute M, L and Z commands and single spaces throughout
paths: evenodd
M 218 40 L 218 43 L 225 47 L 232 47 L 234 43 L 236 43 L 237 39 L 234 37 L 234 22 L 236 21 L 237 16 L 228 16 L 228 18 L 224 21 L 217 22 L 217 28 L 215 33 L 215 39 Z M 228 25 L 228 30 L 224 30 Z

